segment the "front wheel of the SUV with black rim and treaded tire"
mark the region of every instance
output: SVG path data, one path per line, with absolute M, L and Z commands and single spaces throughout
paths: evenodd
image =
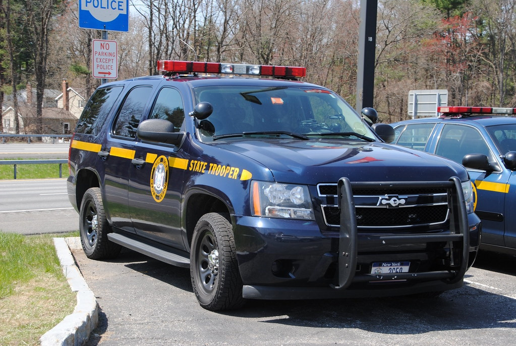
M 221 214 L 203 215 L 193 231 L 190 278 L 199 304 L 211 311 L 244 305 L 231 223 Z

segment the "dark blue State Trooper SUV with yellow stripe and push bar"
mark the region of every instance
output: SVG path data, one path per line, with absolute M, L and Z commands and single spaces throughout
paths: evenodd
M 89 258 L 189 267 L 209 310 L 462 286 L 480 238 L 464 167 L 386 144 L 374 109 L 304 68 L 158 69 L 100 86 L 77 124 L 68 193 Z

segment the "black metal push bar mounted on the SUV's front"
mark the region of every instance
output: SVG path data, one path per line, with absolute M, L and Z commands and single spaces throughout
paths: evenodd
M 371 241 L 381 250 L 392 244 L 447 242 L 450 247 L 449 269 L 420 273 L 359 274 L 356 275 L 358 243 L 357 217 L 353 202 L 352 188 L 399 189 L 404 187 L 446 188 L 450 208 L 450 232 L 446 234 L 385 235 Z M 343 177 L 338 181 L 338 207 L 341 211 L 340 239 L 338 244 L 338 284 L 331 285 L 336 290 L 344 290 L 352 283 L 392 280 L 445 280 L 453 285 L 461 281 L 467 270 L 469 259 L 469 230 L 467 213 L 462 193 L 462 185 L 457 177 L 442 182 L 362 182 L 351 183 Z M 460 244 L 460 245 L 458 245 Z M 460 246 L 460 258 L 454 258 L 454 248 Z

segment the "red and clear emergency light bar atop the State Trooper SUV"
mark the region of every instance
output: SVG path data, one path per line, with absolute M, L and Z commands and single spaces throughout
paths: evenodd
M 220 62 L 158 60 L 158 71 L 174 73 L 225 73 L 255 76 L 300 78 L 307 75 L 304 67 L 222 64 Z

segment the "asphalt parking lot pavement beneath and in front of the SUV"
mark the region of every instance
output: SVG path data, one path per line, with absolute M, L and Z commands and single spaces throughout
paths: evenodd
M 516 336 L 511 256 L 482 254 L 464 287 L 437 298 L 249 301 L 217 313 L 198 305 L 188 269 L 131 250 L 112 261 L 73 255 L 101 308 L 90 346 L 509 345 Z

